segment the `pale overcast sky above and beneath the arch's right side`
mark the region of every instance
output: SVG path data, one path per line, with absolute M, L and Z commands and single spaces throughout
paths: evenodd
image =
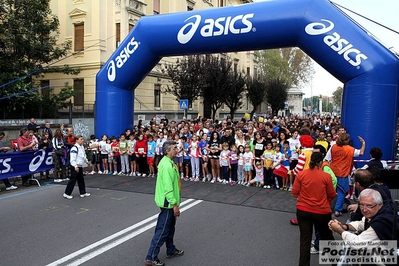
M 254 2 L 267 1 L 267 0 L 254 0 Z M 275 0 L 276 1 L 276 0 Z M 332 0 L 340 6 L 350 9 L 356 13 L 361 14 L 373 21 L 376 21 L 386 27 L 395 31 L 399 31 L 399 1 L 398 0 Z M 361 18 L 353 13 L 346 12 L 356 22 L 362 25 L 367 31 L 372 33 L 377 39 L 399 54 L 399 34 L 389 31 L 375 23 Z M 392 48 L 391 48 L 392 47 Z M 314 62 L 314 69 L 316 74 L 313 76 L 311 84 L 303 86 L 302 91 L 305 97 L 313 95 L 327 95 L 331 96 L 338 86 L 343 84 L 330 75 L 326 70 Z

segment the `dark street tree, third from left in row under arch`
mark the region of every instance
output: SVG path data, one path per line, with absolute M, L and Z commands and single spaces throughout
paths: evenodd
M 241 108 L 242 93 L 245 91 L 245 79 L 241 73 L 229 73 L 229 89 L 226 91 L 224 103 L 230 109 L 230 117 L 234 119 L 234 113 Z

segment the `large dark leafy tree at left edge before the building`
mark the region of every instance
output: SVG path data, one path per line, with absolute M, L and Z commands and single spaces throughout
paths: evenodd
M 57 43 L 59 20 L 51 12 L 50 0 L 2 0 L 0 21 L 0 96 L 5 98 L 4 112 L 34 113 L 36 104 L 43 100 L 33 89 L 34 78 L 44 72 L 80 72 L 67 65 L 51 65 L 67 55 L 72 42 Z

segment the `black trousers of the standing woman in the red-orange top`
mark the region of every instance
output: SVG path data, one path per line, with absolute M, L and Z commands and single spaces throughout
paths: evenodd
M 313 226 L 316 225 L 320 232 L 321 240 L 334 240 L 332 231 L 328 228 L 331 214 L 317 214 L 296 210 L 300 231 L 299 266 L 310 266 L 310 245 L 312 242 Z

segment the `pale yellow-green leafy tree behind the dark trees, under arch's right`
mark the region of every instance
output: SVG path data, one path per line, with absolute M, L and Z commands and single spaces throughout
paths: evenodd
M 288 88 L 300 87 L 314 74 L 312 60 L 297 47 L 261 50 L 256 54 L 264 78 L 278 78 L 286 82 Z

